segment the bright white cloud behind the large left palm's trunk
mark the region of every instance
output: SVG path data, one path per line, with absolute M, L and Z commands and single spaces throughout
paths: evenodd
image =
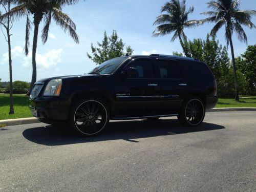
M 50 69 L 51 67 L 57 66 L 61 62 L 62 49 L 51 50 L 46 54 L 36 54 L 36 67 L 38 69 Z M 29 53 L 28 57 L 24 57 L 23 66 L 29 67 L 32 63 L 32 52 Z

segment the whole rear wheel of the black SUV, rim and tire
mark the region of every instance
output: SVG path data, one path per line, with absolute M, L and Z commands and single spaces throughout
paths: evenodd
M 204 104 L 201 99 L 191 97 L 184 101 L 178 115 L 179 121 L 189 126 L 197 126 L 202 123 L 205 116 Z

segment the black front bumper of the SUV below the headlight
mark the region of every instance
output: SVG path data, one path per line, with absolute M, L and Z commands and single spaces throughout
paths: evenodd
M 60 96 L 29 98 L 32 115 L 42 122 L 61 123 L 69 118 L 70 100 Z

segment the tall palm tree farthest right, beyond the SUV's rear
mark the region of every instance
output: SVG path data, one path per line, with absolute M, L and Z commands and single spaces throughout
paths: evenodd
M 214 28 L 210 31 L 211 36 L 215 36 L 219 29 L 222 26 L 225 26 L 225 38 L 227 45 L 230 44 L 231 56 L 232 56 L 232 65 L 233 65 L 233 75 L 234 75 L 234 84 L 236 89 L 235 99 L 239 100 L 239 88 L 238 88 L 238 79 L 237 79 L 237 70 L 236 62 L 234 59 L 234 50 L 232 43 L 232 34 L 236 32 L 238 39 L 244 41 L 247 44 L 247 36 L 242 27 L 246 26 L 255 28 L 255 25 L 250 21 L 251 15 L 256 15 L 255 10 L 240 10 L 240 0 L 216 0 L 210 1 L 207 3 L 207 8 L 211 8 L 213 11 L 207 11 L 201 14 L 208 15 L 208 18 L 199 20 L 199 24 L 216 23 Z

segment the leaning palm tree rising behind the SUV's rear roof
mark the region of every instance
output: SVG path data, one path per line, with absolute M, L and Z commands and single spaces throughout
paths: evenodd
M 186 1 L 171 0 L 161 7 L 161 13 L 167 14 L 159 15 L 153 25 L 159 25 L 153 32 L 153 36 L 164 36 L 166 34 L 174 33 L 172 41 L 179 37 L 181 47 L 184 54 L 189 57 L 186 49 L 186 35 L 184 28 L 191 28 L 197 25 L 197 20 L 188 20 L 188 14 L 193 13 L 194 7 L 189 7 L 186 10 Z

